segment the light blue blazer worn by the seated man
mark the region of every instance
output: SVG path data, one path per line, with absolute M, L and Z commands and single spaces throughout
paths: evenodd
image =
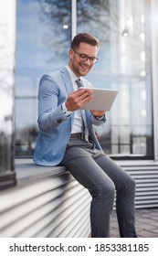
M 84 84 L 90 87 L 90 82 L 84 79 Z M 38 91 L 38 126 L 37 144 L 33 156 L 37 165 L 58 165 L 65 154 L 74 112 L 65 116 L 62 103 L 68 94 L 74 91 L 68 69 L 65 67 L 44 75 L 39 82 Z M 86 111 L 86 120 L 89 127 L 91 140 L 101 150 L 100 143 L 93 131 L 92 124 L 100 125 L 105 122 L 93 118 L 90 111 Z

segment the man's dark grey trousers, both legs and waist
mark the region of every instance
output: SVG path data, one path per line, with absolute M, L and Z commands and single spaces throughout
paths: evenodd
M 134 238 L 135 182 L 110 157 L 94 144 L 70 138 L 60 165 L 90 191 L 90 226 L 92 238 L 111 237 L 111 211 L 116 191 L 116 212 L 122 238 Z

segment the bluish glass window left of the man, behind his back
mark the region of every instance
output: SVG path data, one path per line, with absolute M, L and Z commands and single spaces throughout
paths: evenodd
M 70 10 L 70 0 L 17 0 L 16 156 L 31 156 L 35 148 L 41 76 L 68 62 Z

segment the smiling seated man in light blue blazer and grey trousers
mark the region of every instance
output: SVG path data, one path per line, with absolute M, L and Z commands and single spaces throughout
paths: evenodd
M 34 161 L 38 165 L 66 166 L 71 175 L 90 191 L 93 238 L 110 237 L 116 190 L 120 235 L 132 238 L 136 237 L 135 182 L 101 150 L 92 125 L 105 123 L 105 112 L 80 110 L 92 97 L 92 85 L 83 77 L 97 62 L 99 48 L 98 38 L 80 33 L 72 40 L 68 66 L 40 80 L 39 133 Z M 82 90 L 79 90 L 80 82 L 84 87 Z

